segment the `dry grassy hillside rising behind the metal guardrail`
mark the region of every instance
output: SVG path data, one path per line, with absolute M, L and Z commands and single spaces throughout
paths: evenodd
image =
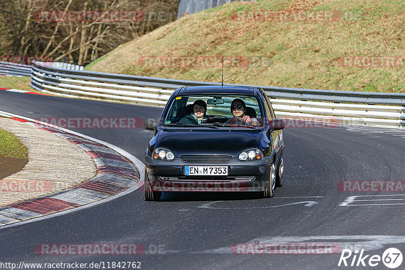
M 401 93 L 404 21 L 403 0 L 234 2 L 125 43 L 86 70 L 220 82 L 218 63 L 191 62 L 225 55 L 226 83 Z

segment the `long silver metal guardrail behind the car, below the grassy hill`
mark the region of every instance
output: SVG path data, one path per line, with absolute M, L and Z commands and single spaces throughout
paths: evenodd
M 30 85 L 60 95 L 165 106 L 180 86 L 220 83 L 71 70 L 33 62 Z M 281 118 L 321 116 L 339 123 L 405 127 L 405 94 L 261 87 Z

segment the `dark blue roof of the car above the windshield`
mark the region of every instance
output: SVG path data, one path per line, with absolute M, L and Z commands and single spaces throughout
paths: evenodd
M 257 95 L 258 87 L 253 86 L 185 86 L 180 87 L 175 92 L 175 95 L 200 95 L 200 94 L 241 94 L 241 95 Z

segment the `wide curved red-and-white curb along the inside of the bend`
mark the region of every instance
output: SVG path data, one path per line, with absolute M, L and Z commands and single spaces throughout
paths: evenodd
M 66 129 L 61 130 L 63 128 L 51 127 L 46 123 L 38 124 L 38 121 L 33 119 L 1 111 L 0 115 L 48 130 L 76 144 L 94 159 L 98 169 L 95 177 L 73 188 L 0 207 L 0 228 L 10 227 L 17 222 L 41 218 L 65 210 L 83 208 L 89 204 L 93 206 L 94 203 L 101 200 L 113 199 L 113 197 L 120 197 L 132 192 L 138 189 L 142 183 L 143 170 L 138 169 L 140 170 L 138 172 L 136 167 L 143 168 L 143 163 L 124 150 L 115 146 L 111 148 L 111 145 L 90 137 L 85 138 L 86 136 L 83 134 L 68 132 Z

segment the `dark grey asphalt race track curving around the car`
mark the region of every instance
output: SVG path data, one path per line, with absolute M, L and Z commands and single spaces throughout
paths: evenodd
M 29 118 L 159 118 L 162 109 L 0 92 L 0 110 Z M 70 128 L 124 149 L 144 162 L 151 131 Z M 0 229 L 0 261 L 19 263 L 141 262 L 141 269 L 351 269 L 341 250 L 382 256 L 405 252 L 405 192 L 345 192 L 340 181 L 405 180 L 405 131 L 371 127 L 283 130 L 284 186 L 275 197 L 143 190 L 73 213 Z M 384 195 L 384 196 L 381 196 Z M 389 196 L 386 196 L 389 195 Z M 351 197 L 366 196 L 366 197 Z M 351 197 L 351 198 L 349 198 Z M 38 255 L 41 244 L 141 244 L 139 255 Z M 236 244 L 327 243 L 332 254 L 236 254 Z M 160 245 L 160 246 L 159 246 Z M 253 246 L 253 245 L 252 245 Z M 160 252 L 157 250 L 160 248 Z M 249 250 L 249 249 L 246 249 Z M 241 249 L 240 253 L 243 253 Z M 259 253 L 259 251 L 257 251 Z M 405 254 L 405 253 L 404 253 Z M 353 255 L 347 259 L 352 262 Z M 354 263 L 357 263 L 355 260 Z M 361 264 L 360 264 L 361 265 Z M 400 269 L 402 265 L 398 267 Z M 101 267 L 102 268 L 102 267 Z M 359 266 L 357 268 L 371 268 Z M 373 269 L 388 269 L 382 261 Z

